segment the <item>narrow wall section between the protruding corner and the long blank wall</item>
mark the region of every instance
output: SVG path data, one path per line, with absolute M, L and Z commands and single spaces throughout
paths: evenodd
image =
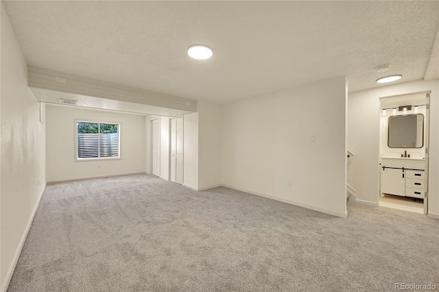
M 222 168 L 222 106 L 198 101 L 198 189 L 220 186 Z

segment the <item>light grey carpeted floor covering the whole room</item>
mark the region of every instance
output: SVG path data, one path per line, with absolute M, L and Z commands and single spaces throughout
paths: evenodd
M 348 205 L 342 219 L 153 175 L 47 186 L 8 292 L 393 291 L 439 287 L 439 221 Z

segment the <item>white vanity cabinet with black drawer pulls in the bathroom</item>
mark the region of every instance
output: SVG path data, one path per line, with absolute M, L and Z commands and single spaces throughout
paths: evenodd
M 381 158 L 381 195 L 425 196 L 425 161 L 413 158 Z

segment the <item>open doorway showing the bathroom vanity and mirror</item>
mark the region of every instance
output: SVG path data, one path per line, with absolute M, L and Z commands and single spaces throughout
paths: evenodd
M 428 213 L 429 93 L 380 99 L 379 206 Z

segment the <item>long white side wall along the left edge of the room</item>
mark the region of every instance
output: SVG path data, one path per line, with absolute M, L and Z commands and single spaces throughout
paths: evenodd
M 6 291 L 45 188 L 45 126 L 27 64 L 1 8 L 0 291 Z M 38 184 L 39 181 L 39 184 Z

